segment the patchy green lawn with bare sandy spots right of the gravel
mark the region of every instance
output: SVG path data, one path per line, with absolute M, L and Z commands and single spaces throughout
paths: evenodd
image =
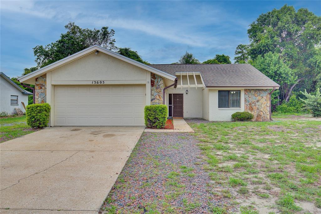
M 258 213 L 256 202 L 271 213 L 309 213 L 299 204 L 321 206 L 321 121 L 274 116 L 283 120 L 189 125 L 213 189 L 220 197 L 229 192 L 241 213 Z

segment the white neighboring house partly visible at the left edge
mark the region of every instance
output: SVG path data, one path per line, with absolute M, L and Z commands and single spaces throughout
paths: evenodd
M 32 93 L 20 88 L 4 73 L 0 72 L 0 76 L 0 112 L 16 114 L 14 108 L 20 108 L 25 112 L 22 102 L 27 106 L 28 96 Z

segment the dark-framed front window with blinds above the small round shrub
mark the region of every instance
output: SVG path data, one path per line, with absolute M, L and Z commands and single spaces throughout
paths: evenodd
M 219 91 L 219 108 L 240 108 L 241 91 Z

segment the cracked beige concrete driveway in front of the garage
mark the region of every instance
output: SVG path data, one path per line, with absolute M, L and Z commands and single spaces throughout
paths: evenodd
M 52 127 L 1 143 L 1 213 L 97 213 L 143 130 Z

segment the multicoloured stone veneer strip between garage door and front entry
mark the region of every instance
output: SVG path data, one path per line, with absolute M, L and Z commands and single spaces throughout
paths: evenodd
M 163 104 L 163 78 L 151 73 L 151 105 Z

